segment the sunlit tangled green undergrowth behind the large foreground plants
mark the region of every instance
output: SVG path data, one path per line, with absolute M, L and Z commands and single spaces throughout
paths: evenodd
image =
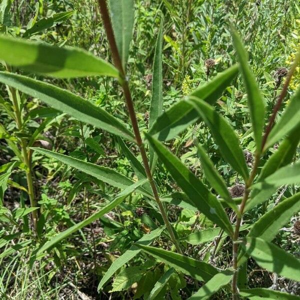
M 248 52 L 248 63 L 263 96 L 266 116 L 269 116 L 300 45 L 299 13 L 300 7 L 296 1 L 289 0 L 135 0 L 126 80 L 129 82 L 140 131 L 147 130 L 151 122 L 152 64 L 162 18 L 164 111 L 195 88 L 212 81 L 217 73 L 227 70 L 237 61 L 230 34 L 230 25 L 233 25 Z M 0 30 L 6 35 L 60 47 L 80 47 L 112 62 L 98 3 L 94 0 L 0 0 Z M 47 57 L 44 58 L 47 60 Z M 77 63 L 80 66 L 82 62 Z M 35 72 L 10 67 L 9 64 L 3 62 L 0 70 L 26 74 L 69 90 L 105 109 L 130 128 L 122 91 L 113 78 L 43 77 L 33 74 Z M 290 96 L 296 92 L 299 84 L 300 69 L 297 66 L 276 121 L 288 107 Z M 11 98 L 19 103 L 16 106 L 20 111 L 16 111 L 15 106 L 12 108 Z M 233 127 L 250 169 L 256 144 L 247 98 L 242 76 L 238 74 L 225 86 L 214 106 Z M 107 211 L 47 249 L 39 259 L 32 259 L 36 249 L 46 240 L 52 240 L 58 232 L 86 219 L 119 194 L 123 186 L 107 184 L 109 182 L 105 179 L 95 178 L 82 169 L 44 155 L 46 152 L 33 151 L 29 147 L 41 147 L 107 166 L 134 181 L 137 180 L 137 173 L 134 165 L 132 168 L 132 160 L 128 159 L 128 151 L 130 149 L 138 161 L 141 161 L 141 156 L 136 144 L 124 142 L 106 130 L 86 124 L 86 119 L 61 113 L 45 105 L 38 96 L 15 92 L 2 83 L 0 116 L 1 298 L 86 300 L 147 299 L 151 296 L 155 299 L 185 299 L 202 286 L 203 280 L 193 278 L 181 269 L 174 271 L 161 259 L 154 258 L 157 256 L 153 257 L 140 249 L 138 255 L 103 281 L 104 274 L 117 257 L 130 247 L 132 250 L 132 243 L 145 233 L 155 233 L 163 225 L 156 205 L 138 192 L 130 193 L 112 211 Z M 296 131 L 292 138 L 296 142 L 293 161 L 297 161 L 299 155 L 298 135 Z M 230 195 L 237 198 L 236 203 L 239 203 L 245 189 L 244 180 L 223 158 L 218 143 L 203 121 L 189 125 L 166 141 L 165 145 L 213 194 L 218 195 L 219 192 L 211 187 L 207 174 L 204 174 L 194 137 L 223 177 Z M 257 166 L 258 172 L 280 145 L 281 142 L 275 143 L 263 153 Z M 24 157 L 29 160 L 24 160 Z M 28 176 L 31 176 L 32 190 L 28 186 Z M 162 198 L 167 195 L 162 202 L 184 254 L 220 269 L 231 267 L 230 237 L 188 201 L 182 200 L 178 183 L 160 159 L 153 176 L 159 194 Z M 297 195 L 298 183 L 300 181 L 297 178 L 292 184 L 281 184 L 269 200 L 248 209 L 243 216 L 241 235 L 245 235 L 250 225 L 265 212 L 284 199 Z M 37 210 L 32 210 L 35 206 L 40 207 L 39 215 Z M 274 244 L 295 258 L 300 253 L 298 210 L 278 228 L 273 239 Z M 225 211 L 230 221 L 234 222 L 234 210 L 227 207 Z M 164 231 L 161 235 L 159 232 L 153 236 L 151 245 L 175 251 Z M 195 234 L 190 235 L 192 233 Z M 293 295 L 286 299 L 296 299 L 296 295 L 300 295 L 299 282 L 267 271 L 252 258 L 249 258 L 247 268 L 241 273 L 244 278 L 240 276 L 240 282 L 247 281 L 245 284 L 250 288 L 271 287 Z M 157 287 L 157 280 L 162 276 L 166 276 L 166 279 Z M 157 293 L 149 296 L 154 286 Z M 210 298 L 230 299 L 231 293 L 224 286 Z M 272 297 L 268 295 L 265 298 Z

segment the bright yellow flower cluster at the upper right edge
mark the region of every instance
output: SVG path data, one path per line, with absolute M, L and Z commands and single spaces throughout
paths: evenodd
M 288 58 L 286 60 L 287 64 L 292 64 L 292 62 L 295 58 L 295 55 L 300 48 L 300 19 L 297 19 L 296 23 L 297 23 L 297 27 L 292 32 L 293 38 L 292 38 L 291 44 L 290 44 L 292 53 L 288 56 Z M 296 90 L 299 86 L 300 86 L 300 67 L 297 66 L 293 73 L 293 76 L 291 77 L 289 87 L 292 90 Z

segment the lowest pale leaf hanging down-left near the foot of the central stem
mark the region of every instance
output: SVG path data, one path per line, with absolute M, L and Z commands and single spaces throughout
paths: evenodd
M 164 226 L 161 226 L 157 229 L 154 229 L 153 231 L 145 234 L 143 237 L 141 237 L 136 243 L 149 245 L 157 236 L 160 235 L 162 230 L 164 229 Z M 101 287 L 107 282 L 107 280 L 125 263 L 127 263 L 130 259 L 132 259 L 134 256 L 136 256 L 141 251 L 140 248 L 138 248 L 135 245 L 132 245 L 128 250 L 126 250 L 121 256 L 116 258 L 111 265 L 109 266 L 108 270 L 104 274 L 104 276 L 101 278 L 98 290 L 101 289 Z

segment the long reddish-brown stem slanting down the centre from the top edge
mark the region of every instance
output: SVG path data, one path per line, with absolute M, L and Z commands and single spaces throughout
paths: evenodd
M 132 101 L 132 98 L 131 98 L 131 93 L 130 93 L 129 86 L 128 86 L 128 81 L 125 78 L 125 72 L 123 70 L 121 59 L 120 59 L 120 56 L 119 56 L 119 53 L 118 53 L 118 50 L 117 50 L 117 47 L 116 47 L 116 42 L 115 42 L 115 39 L 114 39 L 114 34 L 113 34 L 113 30 L 112 30 L 112 26 L 111 26 L 111 22 L 110 22 L 110 18 L 109 18 L 109 13 L 108 13 L 108 9 L 107 9 L 106 0 L 98 0 L 98 4 L 99 4 L 99 9 L 100 9 L 100 13 L 101 13 L 101 16 L 102 16 L 104 28 L 105 28 L 105 31 L 106 31 L 107 39 L 108 39 L 108 42 L 109 42 L 112 59 L 113 59 L 115 67 L 118 69 L 118 71 L 120 73 L 120 76 L 122 78 L 120 80 L 120 84 L 121 84 L 122 89 L 123 89 L 123 94 L 124 94 L 124 97 L 125 97 L 129 117 L 130 117 L 130 120 L 131 120 L 133 132 L 134 132 L 135 139 L 136 139 L 136 143 L 137 143 L 137 146 L 138 146 L 139 151 L 140 151 L 140 155 L 141 155 L 141 158 L 142 158 L 144 169 L 145 169 L 147 178 L 149 180 L 149 183 L 150 183 L 150 186 L 151 186 L 151 189 L 152 189 L 152 192 L 153 192 L 154 199 L 155 199 L 155 201 L 158 205 L 159 211 L 161 213 L 161 216 L 163 218 L 165 226 L 168 230 L 170 238 L 171 238 L 174 246 L 176 247 L 176 250 L 179 253 L 182 254 L 179 243 L 177 242 L 177 240 L 175 238 L 172 226 L 171 226 L 170 222 L 168 221 L 168 218 L 167 218 L 167 215 L 166 215 L 165 210 L 163 208 L 163 205 L 162 205 L 162 203 L 159 199 L 157 188 L 156 188 L 155 182 L 154 182 L 152 174 L 151 174 L 151 170 L 150 170 L 149 163 L 148 163 L 148 158 L 147 158 L 146 151 L 145 151 L 145 148 L 144 148 L 141 136 L 140 136 L 139 128 L 138 128 L 138 123 L 137 123 L 137 119 L 136 119 L 136 115 L 135 115 L 135 111 L 134 111 L 134 107 L 133 107 L 133 101 Z

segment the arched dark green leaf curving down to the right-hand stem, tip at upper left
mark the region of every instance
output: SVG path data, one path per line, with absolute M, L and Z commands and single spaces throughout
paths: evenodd
M 243 152 L 239 146 L 239 140 L 229 123 L 218 114 L 212 106 L 203 100 L 190 97 L 187 100 L 195 107 L 203 118 L 219 146 L 223 157 L 245 180 L 248 178 L 248 169 Z

